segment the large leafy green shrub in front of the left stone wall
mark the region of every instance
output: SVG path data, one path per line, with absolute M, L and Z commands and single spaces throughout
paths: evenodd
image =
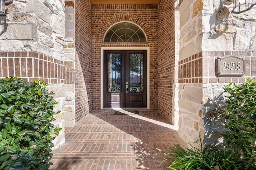
M 50 134 L 61 128 L 53 129 L 56 102 L 46 86 L 17 77 L 0 80 L 0 169 L 46 170 L 52 164 Z

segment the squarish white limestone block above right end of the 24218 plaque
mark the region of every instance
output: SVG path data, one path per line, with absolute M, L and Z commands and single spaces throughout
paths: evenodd
M 248 30 L 237 30 L 234 37 L 234 50 L 247 50 L 249 47 L 250 32 Z

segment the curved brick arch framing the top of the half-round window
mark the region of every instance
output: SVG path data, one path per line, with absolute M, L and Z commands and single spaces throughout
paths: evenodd
M 117 14 L 106 20 L 98 30 L 97 41 L 103 41 L 106 31 L 115 23 L 122 21 L 129 21 L 140 26 L 141 29 L 144 31 L 148 39 L 148 42 L 152 41 L 153 33 L 152 30 L 150 29 L 150 26 L 146 23 L 146 21 L 142 20 L 141 18 L 138 18 L 138 16 L 131 14 Z

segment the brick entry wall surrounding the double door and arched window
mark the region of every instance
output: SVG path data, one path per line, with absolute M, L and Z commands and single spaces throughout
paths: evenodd
M 147 43 L 104 43 L 109 27 L 120 21 L 139 25 Z M 158 109 L 158 5 L 155 4 L 92 4 L 92 89 L 94 109 L 100 109 L 101 47 L 150 47 L 150 109 Z

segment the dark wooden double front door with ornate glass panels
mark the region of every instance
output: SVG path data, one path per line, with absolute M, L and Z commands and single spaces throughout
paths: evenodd
M 104 51 L 104 107 L 146 107 L 146 51 Z

